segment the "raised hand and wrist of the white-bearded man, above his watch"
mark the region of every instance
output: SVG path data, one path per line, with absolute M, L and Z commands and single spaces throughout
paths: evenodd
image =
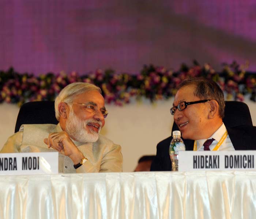
M 52 147 L 61 154 L 71 158 L 74 164 L 78 164 L 84 157 L 65 131 L 50 133 L 49 137 L 44 139 L 44 143 L 46 143 L 48 148 Z

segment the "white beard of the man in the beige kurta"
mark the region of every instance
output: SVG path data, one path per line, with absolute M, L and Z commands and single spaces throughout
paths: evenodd
M 86 125 L 88 123 L 98 123 L 100 125 L 99 131 L 96 132 L 91 130 L 89 133 L 86 130 Z M 102 122 L 99 122 L 95 119 L 87 119 L 81 121 L 78 116 L 75 115 L 73 109 L 70 109 L 68 119 L 66 122 L 66 132 L 68 135 L 75 141 L 86 143 L 86 142 L 95 142 L 99 138 L 99 132 L 101 131 Z

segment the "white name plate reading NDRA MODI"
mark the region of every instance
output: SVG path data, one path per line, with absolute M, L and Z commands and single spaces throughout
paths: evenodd
M 58 152 L 0 154 L 1 175 L 58 173 Z

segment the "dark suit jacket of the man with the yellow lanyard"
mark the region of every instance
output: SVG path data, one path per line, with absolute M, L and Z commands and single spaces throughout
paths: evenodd
M 237 126 L 227 128 L 230 140 L 235 150 L 256 150 L 256 127 Z M 172 137 L 168 137 L 157 144 L 157 155 L 155 156 L 150 171 L 171 171 L 172 163 L 169 156 L 169 147 Z M 194 140 L 183 139 L 186 150 L 193 150 Z

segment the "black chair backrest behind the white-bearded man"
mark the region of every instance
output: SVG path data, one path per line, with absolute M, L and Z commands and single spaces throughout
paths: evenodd
M 58 124 L 55 117 L 54 101 L 34 101 L 20 107 L 15 132 L 22 124 Z

